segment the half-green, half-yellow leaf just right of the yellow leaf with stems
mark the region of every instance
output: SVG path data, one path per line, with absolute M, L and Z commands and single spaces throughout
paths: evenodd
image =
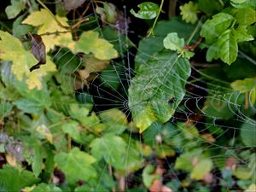
M 85 54 L 93 53 L 99 60 L 110 60 L 118 57 L 118 52 L 113 49 L 113 44 L 99 38 L 99 33 L 93 31 L 82 33 L 76 44 L 75 51 L 84 52 Z

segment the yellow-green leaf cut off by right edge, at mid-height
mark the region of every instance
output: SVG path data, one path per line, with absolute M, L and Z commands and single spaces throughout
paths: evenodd
M 230 85 L 233 88 L 233 90 L 238 90 L 241 93 L 250 91 L 250 101 L 253 104 L 256 102 L 256 78 L 236 80 Z

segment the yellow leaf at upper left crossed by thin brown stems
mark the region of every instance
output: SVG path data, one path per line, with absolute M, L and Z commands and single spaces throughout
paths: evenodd
M 62 26 L 67 26 L 67 18 L 55 15 L 56 19 L 61 22 Z M 42 35 L 45 44 L 46 52 L 53 49 L 55 46 L 67 47 L 71 50 L 74 49 L 74 41 L 71 32 L 59 26 L 53 19 L 49 12 L 45 9 L 33 12 L 26 20 L 22 21 L 23 24 L 38 26 L 38 34 Z M 49 34 L 45 34 L 49 33 Z

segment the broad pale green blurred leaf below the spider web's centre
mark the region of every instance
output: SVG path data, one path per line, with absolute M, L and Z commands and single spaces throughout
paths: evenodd
M 91 153 L 97 160 L 102 158 L 116 169 L 124 169 L 126 143 L 121 137 L 107 134 L 90 143 Z

